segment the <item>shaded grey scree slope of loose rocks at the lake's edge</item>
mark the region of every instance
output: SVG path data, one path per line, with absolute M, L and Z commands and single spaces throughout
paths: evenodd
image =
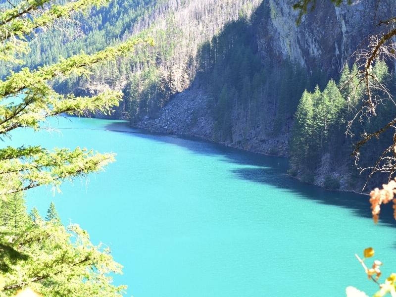
M 255 153 L 288 156 L 288 134 L 271 137 L 262 127 L 256 127 L 245 134 L 245 123 L 238 122 L 237 116 L 234 116 L 231 139 L 219 141 L 208 108 L 209 100 L 211 98 L 199 89 L 185 91 L 176 95 L 155 117 L 146 116 L 135 127 L 150 132 L 198 137 Z

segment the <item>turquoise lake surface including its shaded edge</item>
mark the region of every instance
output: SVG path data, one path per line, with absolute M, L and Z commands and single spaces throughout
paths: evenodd
M 369 246 L 384 275 L 396 270 L 391 211 L 374 225 L 367 196 L 299 183 L 285 174 L 286 159 L 139 133 L 121 121 L 50 124 L 58 131 L 18 131 L 12 144 L 95 148 L 117 162 L 54 197 L 31 190 L 29 208 L 45 215 L 53 200 L 65 224 L 110 246 L 126 296 L 328 297 L 349 285 L 372 295 L 354 257 Z

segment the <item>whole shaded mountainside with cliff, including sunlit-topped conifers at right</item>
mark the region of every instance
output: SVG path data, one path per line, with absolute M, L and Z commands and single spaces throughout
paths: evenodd
M 340 91 L 339 82 L 349 77 L 348 65 L 354 71 L 353 51 L 370 32 L 379 30 L 373 23 L 375 5 L 360 1 L 335 8 L 320 2 L 296 26 L 297 13 L 288 1 L 262 2 L 251 18 L 229 24 L 203 45 L 198 60 L 209 62 L 199 68 L 190 90 L 139 126 L 291 155 L 290 173 L 297 178 L 332 189 L 360 190 L 369 172 L 358 178 L 350 154 L 352 143 L 369 126 L 356 127 L 353 138 L 347 137 L 347 121 L 358 106 L 351 104 L 345 89 Z M 391 16 L 395 3 L 381 1 L 377 11 L 383 18 Z M 378 75 L 392 84 L 393 65 L 388 69 L 377 64 Z M 306 110 L 297 109 L 301 96 L 312 101 L 309 127 L 295 125 L 296 118 L 306 121 L 305 114 L 298 113 Z M 385 114 L 370 125 L 379 127 L 382 118 Z M 304 135 L 311 147 L 301 146 L 298 135 Z M 383 148 L 385 142 L 365 149 Z M 372 164 L 375 157 L 368 155 L 359 165 Z M 372 183 L 380 181 L 378 177 Z

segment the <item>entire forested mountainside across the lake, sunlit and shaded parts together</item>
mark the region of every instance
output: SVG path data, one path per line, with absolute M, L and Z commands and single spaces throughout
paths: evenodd
M 391 0 L 376 5 L 321 1 L 297 26 L 298 13 L 288 0 L 117 0 L 64 24 L 64 30 L 32 39 L 25 60 L 36 67 L 38 61 L 93 52 L 133 35 L 151 36 L 153 48 L 95 66 L 89 76 L 58 79 L 55 88 L 80 96 L 121 90 L 113 118 L 291 156 L 290 173 L 303 181 L 358 189 L 359 172 L 349 153 L 369 127 L 346 137 L 351 107 L 357 106 L 340 84 L 355 71 L 353 51 L 369 33 L 379 32 L 376 18 L 396 11 Z M 377 64 L 384 81 L 394 84 L 394 66 Z M 365 160 L 369 164 L 374 156 Z

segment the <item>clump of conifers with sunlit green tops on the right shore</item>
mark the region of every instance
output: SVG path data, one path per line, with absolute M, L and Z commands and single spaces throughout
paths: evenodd
M 303 93 L 295 114 L 290 143 L 290 166 L 294 171 L 315 174 L 319 167 L 331 171 L 340 164 L 348 165 L 352 171 L 352 159 L 348 157 L 352 151 L 352 143 L 359 135 L 385 126 L 387 119 L 393 117 L 395 106 L 385 104 L 376 117 L 355 127 L 352 138 L 346 137 L 347 121 L 353 117 L 353 110 L 361 106 L 364 96 L 358 86 L 359 78 L 355 76 L 356 73 L 355 65 L 352 69 L 346 65 L 339 84 L 330 80 L 323 92 L 316 87 L 313 93 Z M 395 78 L 389 73 L 384 61 L 376 61 L 373 73 L 382 83 L 393 85 Z M 384 96 L 378 91 L 373 92 L 378 98 Z M 394 91 L 391 89 L 391 92 Z M 373 151 L 379 152 L 388 146 L 386 137 L 367 143 L 361 150 L 361 165 L 369 167 L 375 164 L 379 156 Z M 337 183 L 326 178 L 325 187 L 334 189 L 336 186 Z

